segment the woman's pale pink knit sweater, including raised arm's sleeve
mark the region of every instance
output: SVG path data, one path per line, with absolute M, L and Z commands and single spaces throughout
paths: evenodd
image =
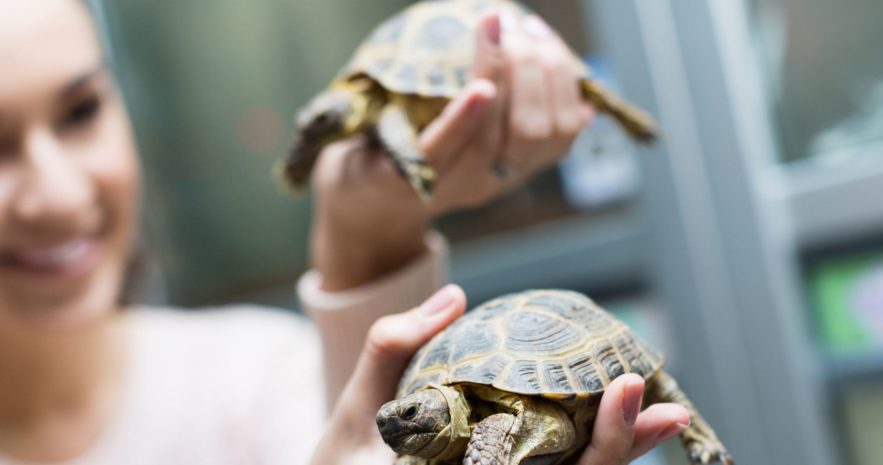
M 253 305 L 132 311 L 116 415 L 86 454 L 65 464 L 306 463 L 368 327 L 446 281 L 442 237 L 426 243 L 423 257 L 358 289 L 324 292 L 319 274 L 305 274 L 298 297 L 312 323 Z M 0 455 L 0 465 L 19 463 Z

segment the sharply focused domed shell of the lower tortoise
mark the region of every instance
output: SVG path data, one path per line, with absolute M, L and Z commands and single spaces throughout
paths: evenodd
M 411 360 L 402 398 L 436 383 L 472 383 L 553 400 L 603 393 L 612 379 L 649 379 L 663 356 L 589 297 L 529 290 L 498 297 L 436 334 Z

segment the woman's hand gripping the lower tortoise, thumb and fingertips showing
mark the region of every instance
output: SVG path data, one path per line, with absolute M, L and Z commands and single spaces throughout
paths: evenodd
M 343 388 L 318 448 L 314 465 L 389 465 L 396 454 L 377 431 L 375 416 L 396 395 L 411 356 L 466 310 L 463 289 L 448 285 L 411 311 L 378 319 L 350 381 Z M 623 465 L 674 437 L 690 414 L 674 403 L 654 404 L 638 414 L 644 379 L 625 374 L 601 397 L 592 442 L 577 465 Z

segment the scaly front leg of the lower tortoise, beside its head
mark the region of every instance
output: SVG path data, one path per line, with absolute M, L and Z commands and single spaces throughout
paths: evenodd
M 514 415 L 498 413 L 476 424 L 466 446 L 463 465 L 509 465 L 517 432 L 512 431 L 515 420 Z

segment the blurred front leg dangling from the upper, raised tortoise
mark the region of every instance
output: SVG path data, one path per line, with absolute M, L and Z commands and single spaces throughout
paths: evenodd
M 372 135 L 420 199 L 428 203 L 432 199 L 435 171 L 420 153 L 417 132 L 404 109 L 396 104 L 388 104 L 378 118 Z

